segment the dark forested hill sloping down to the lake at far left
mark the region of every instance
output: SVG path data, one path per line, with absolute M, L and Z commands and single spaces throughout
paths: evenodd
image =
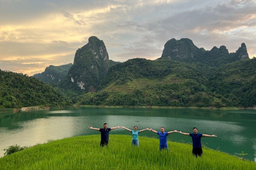
M 0 70 L 0 108 L 64 107 L 72 102 L 49 84 L 26 74 Z

